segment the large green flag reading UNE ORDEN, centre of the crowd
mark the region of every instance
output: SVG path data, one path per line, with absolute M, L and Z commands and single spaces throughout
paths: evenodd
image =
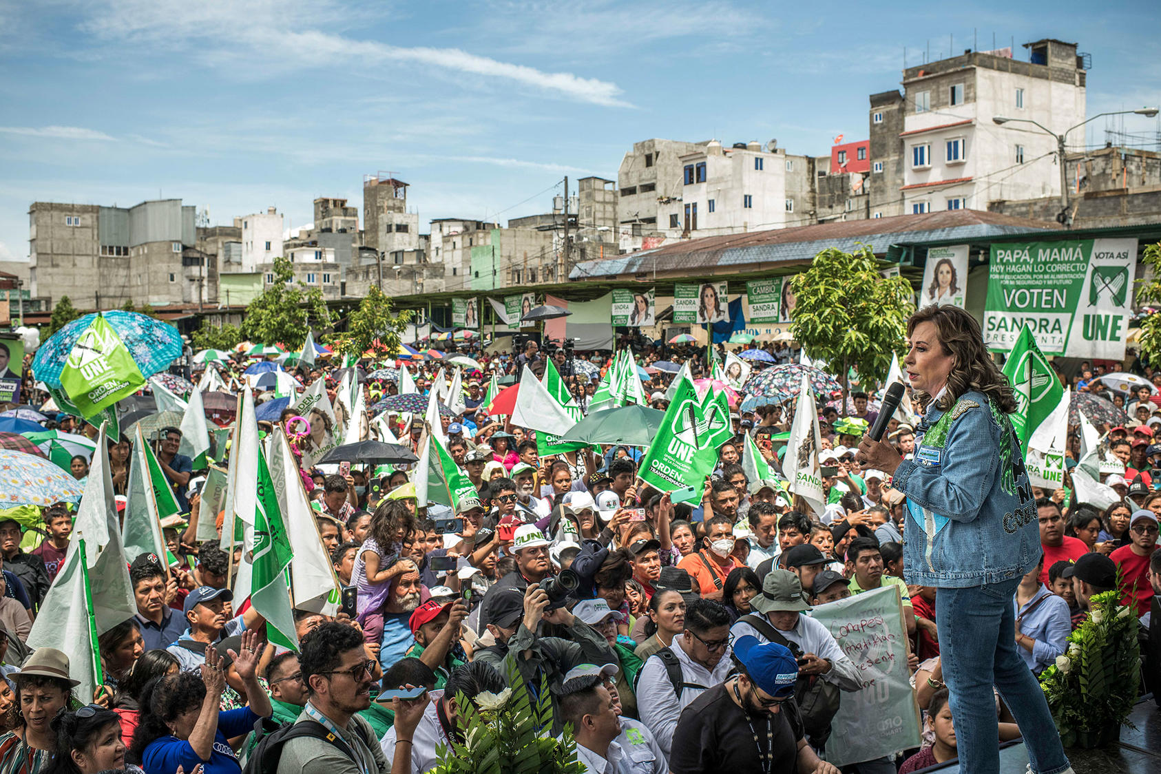
M 692 383 L 683 381 L 678 385 L 661 428 L 641 460 L 642 480 L 662 492 L 691 487 L 693 493 L 679 500 L 701 501 L 706 476 L 717 464 L 717 444 L 730 434 L 729 407 L 722 412 L 726 396 L 719 397 L 720 402 L 707 393 L 702 402 Z

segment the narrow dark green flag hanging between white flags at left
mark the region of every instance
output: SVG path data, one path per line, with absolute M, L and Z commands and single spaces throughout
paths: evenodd
M 266 619 L 266 636 L 272 643 L 298 650 L 290 588 L 286 579 L 286 569 L 294 552 L 279 511 L 279 498 L 266 465 L 266 455 L 261 450 L 258 453 L 257 495 L 250 602 Z

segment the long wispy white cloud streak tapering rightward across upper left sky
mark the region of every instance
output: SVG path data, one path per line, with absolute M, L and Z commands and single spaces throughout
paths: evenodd
M 104 13 L 82 26 L 115 43 L 152 44 L 159 50 L 193 44 L 192 52 L 209 64 L 229 67 L 245 77 L 258 72 L 302 67 L 351 66 L 368 71 L 376 64 L 411 63 L 440 70 L 515 82 L 557 96 L 607 107 L 628 107 L 616 84 L 569 72 L 546 72 L 527 65 L 499 62 L 455 48 L 399 46 L 359 39 L 322 27 L 348 20 L 346 8 L 325 1 L 293 9 L 269 0 L 251 2 L 200 2 L 178 0 L 111 0 Z M 251 63 L 254 59 L 254 63 Z

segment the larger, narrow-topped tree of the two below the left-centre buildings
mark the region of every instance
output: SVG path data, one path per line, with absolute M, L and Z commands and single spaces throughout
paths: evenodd
M 274 283 L 246 308 L 243 335 L 254 343 L 280 343 L 288 349 L 302 347 L 307 331 L 331 325 L 331 311 L 323 291 L 294 281 L 289 258 L 274 259 Z

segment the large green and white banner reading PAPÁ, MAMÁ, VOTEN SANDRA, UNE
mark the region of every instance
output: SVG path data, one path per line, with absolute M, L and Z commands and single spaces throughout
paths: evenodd
M 1046 355 L 1122 360 L 1133 303 L 1135 239 L 991 246 L 983 341 L 1008 352 L 1027 325 Z

